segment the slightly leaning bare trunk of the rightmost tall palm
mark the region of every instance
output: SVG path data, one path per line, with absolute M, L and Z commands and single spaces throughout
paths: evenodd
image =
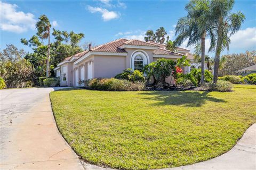
M 218 73 L 219 73 L 219 66 L 220 66 L 220 52 L 221 52 L 221 40 L 222 40 L 222 29 L 221 29 L 222 21 L 219 21 L 218 27 L 218 38 L 217 38 L 217 45 L 215 49 L 215 58 L 214 58 L 214 70 L 213 70 L 213 83 L 217 83 L 218 80 Z

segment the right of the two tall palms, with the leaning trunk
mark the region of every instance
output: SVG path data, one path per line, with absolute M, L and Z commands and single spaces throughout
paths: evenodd
M 241 28 L 245 16 L 242 12 L 230 14 L 234 6 L 234 0 L 211 1 L 210 6 L 212 18 L 215 20 L 215 36 L 217 37 L 213 74 L 213 82 L 217 83 L 220 53 L 225 48 L 229 49 L 230 36 L 234 35 Z

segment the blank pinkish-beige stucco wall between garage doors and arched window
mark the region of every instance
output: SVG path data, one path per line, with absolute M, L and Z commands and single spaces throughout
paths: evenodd
M 126 56 L 94 55 L 94 78 L 111 78 L 123 72 L 126 67 Z

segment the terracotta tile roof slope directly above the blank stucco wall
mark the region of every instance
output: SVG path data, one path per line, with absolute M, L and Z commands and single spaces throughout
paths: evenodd
M 109 43 L 102 44 L 97 47 L 93 47 L 93 48 L 91 48 L 91 50 L 93 52 L 126 53 L 126 51 L 124 49 L 118 48 L 119 46 L 122 46 L 126 41 L 128 41 L 128 40 L 123 39 L 123 38 L 117 39 L 117 40 L 111 41 Z

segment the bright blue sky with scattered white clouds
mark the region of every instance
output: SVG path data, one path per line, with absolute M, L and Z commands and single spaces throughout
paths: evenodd
M 6 44 L 30 50 L 21 38 L 35 35 L 35 22 L 45 14 L 58 30 L 82 32 L 81 45 L 100 45 L 118 38 L 143 39 L 145 31 L 164 27 L 175 39 L 174 27 L 186 15 L 188 1 L 2 1 L 1 49 Z M 256 50 L 256 1 L 236 1 L 233 11 L 242 11 L 246 21 L 231 37 L 229 53 Z M 182 44 L 185 47 L 186 44 Z M 206 48 L 209 40 L 206 39 Z M 193 47 L 188 47 L 193 51 Z M 227 54 L 227 51 L 222 54 Z M 213 55 L 213 54 L 210 54 Z

